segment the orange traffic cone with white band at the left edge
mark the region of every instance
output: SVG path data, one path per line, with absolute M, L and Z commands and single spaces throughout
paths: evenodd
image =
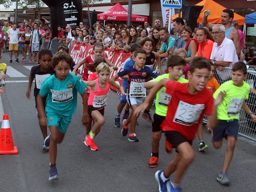
M 3 115 L 0 132 L 0 154 L 18 154 L 17 147 L 13 146 L 11 128 L 8 115 Z

